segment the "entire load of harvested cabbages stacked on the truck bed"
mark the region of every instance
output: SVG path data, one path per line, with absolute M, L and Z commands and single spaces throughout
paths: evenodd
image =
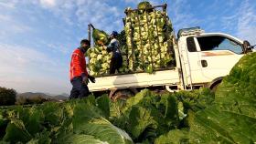
M 127 8 L 125 13 L 124 31 L 117 38 L 123 56 L 123 66 L 118 74 L 153 73 L 170 67 L 174 63 L 174 33 L 166 12 L 153 8 L 148 2 L 142 2 L 138 5 L 138 10 Z M 108 76 L 112 57 L 112 53 L 106 51 L 109 36 L 104 31 L 93 28 L 92 37 L 94 47 L 87 53 L 90 74 L 94 77 Z

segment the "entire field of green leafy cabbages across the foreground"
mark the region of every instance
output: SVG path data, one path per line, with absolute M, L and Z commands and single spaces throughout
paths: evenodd
M 240 59 L 216 93 L 142 90 L 0 110 L 0 143 L 255 143 L 256 53 Z

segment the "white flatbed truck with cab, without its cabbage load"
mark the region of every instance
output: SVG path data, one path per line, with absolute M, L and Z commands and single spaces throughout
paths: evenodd
M 110 97 L 115 98 L 134 94 L 137 88 L 165 87 L 170 92 L 199 87 L 215 89 L 248 48 L 239 38 L 223 33 L 204 33 L 199 27 L 182 29 L 173 40 L 176 56 L 173 69 L 155 71 L 154 74 L 96 77 L 96 83 L 89 84 L 91 92 L 109 92 Z

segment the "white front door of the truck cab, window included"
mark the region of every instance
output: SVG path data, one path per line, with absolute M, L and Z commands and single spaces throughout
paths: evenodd
M 228 36 L 197 36 L 197 49 L 200 52 L 199 65 L 203 81 L 229 75 L 229 71 L 243 56 L 240 42 Z

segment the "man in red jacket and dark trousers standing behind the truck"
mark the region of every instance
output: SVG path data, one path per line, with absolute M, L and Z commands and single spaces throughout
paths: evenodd
M 80 41 L 80 47 L 74 50 L 69 69 L 69 77 L 72 84 L 69 99 L 85 98 L 89 95 L 87 84 L 88 79 L 95 83 L 95 78 L 91 77 L 86 69 L 85 53 L 90 48 L 90 41 L 83 39 Z

